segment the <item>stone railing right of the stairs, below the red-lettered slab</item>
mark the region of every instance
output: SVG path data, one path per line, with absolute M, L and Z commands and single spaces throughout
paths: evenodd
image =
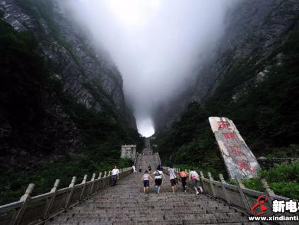
M 160 161 L 160 157 L 158 156 L 158 161 Z M 168 172 L 169 167 L 163 166 L 163 173 L 166 173 L 169 175 Z M 184 169 L 184 171 L 186 171 Z M 175 174 L 177 175 L 177 178 L 181 180 L 179 175 L 179 168 L 175 168 Z M 259 192 L 256 190 L 250 190 L 248 188 L 245 188 L 245 186 L 242 184 L 240 178 L 236 178 L 236 185 L 230 185 L 225 182 L 223 179 L 223 175 L 219 174 L 219 178 L 221 181 L 215 181 L 213 180 L 211 173 L 209 174 L 209 178 L 204 178 L 203 173 L 200 171 L 200 181 L 199 186 L 202 187 L 204 194 L 211 195 L 212 197 L 215 197 L 216 199 L 222 200 L 226 204 L 229 204 L 232 207 L 235 207 L 235 209 L 239 210 L 240 212 L 243 212 L 247 214 L 248 216 L 264 216 L 264 217 L 294 217 L 299 215 L 298 212 L 296 213 L 290 213 L 290 212 L 283 212 L 283 213 L 274 213 L 272 212 L 272 204 L 274 200 L 278 201 L 288 201 L 291 200 L 287 197 L 281 197 L 278 195 L 275 195 L 273 190 L 269 188 L 268 183 L 265 179 L 261 180 L 262 186 L 264 188 L 264 192 Z M 192 180 L 189 180 L 189 173 L 187 176 L 187 185 L 192 188 Z M 261 197 L 264 196 L 264 197 Z M 255 204 L 257 204 L 257 199 L 261 197 L 259 202 L 264 200 L 264 206 L 267 207 L 266 211 L 264 211 L 264 214 L 257 215 L 258 213 L 261 213 L 261 207 L 258 205 L 254 208 L 252 213 L 252 207 L 254 207 Z M 296 202 L 296 205 L 298 207 L 298 200 L 293 200 Z M 298 225 L 298 221 L 272 221 L 276 224 L 281 225 Z

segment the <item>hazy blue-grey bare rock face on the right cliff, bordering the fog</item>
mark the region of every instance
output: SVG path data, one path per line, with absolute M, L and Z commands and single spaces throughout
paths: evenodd
M 156 134 L 170 129 L 189 103 L 196 101 L 204 105 L 223 76 L 242 65 L 244 60 L 255 60 L 262 69 L 253 74 L 253 79 L 234 87 L 232 100 L 238 100 L 238 96 L 262 81 L 273 63 L 283 60 L 282 54 L 271 53 L 283 44 L 298 24 L 298 9 L 299 2 L 295 0 L 240 1 L 228 12 L 225 35 L 211 46 L 209 52 L 201 55 L 196 81 L 182 96 L 160 105 L 154 113 Z

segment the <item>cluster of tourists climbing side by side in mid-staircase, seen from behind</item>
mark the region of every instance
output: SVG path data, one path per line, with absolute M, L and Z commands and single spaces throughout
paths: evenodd
M 151 166 L 148 166 L 148 171 L 150 171 Z M 163 173 L 163 166 L 162 165 L 158 165 L 156 171 L 153 172 L 153 175 L 149 175 L 148 171 L 144 172 L 144 175 L 141 178 L 141 181 L 143 181 L 143 192 L 146 193 L 146 191 L 148 191 L 149 188 L 149 179 L 151 180 L 155 180 L 155 186 L 156 186 L 156 193 L 159 194 L 160 193 L 160 186 L 163 184 L 163 180 L 165 179 L 165 175 Z M 177 175 L 175 174 L 175 169 L 170 166 L 170 168 L 168 169 L 169 175 L 170 175 L 170 184 L 172 187 L 172 192 L 175 194 L 175 190 L 177 188 Z M 183 169 L 180 169 L 180 178 L 182 180 L 182 188 L 184 192 L 187 192 L 187 175 L 189 175 L 189 180 L 192 179 L 192 186 L 195 190 L 195 194 L 199 195 L 199 190 L 202 192 L 202 188 L 199 187 L 199 174 L 194 171 L 193 168 L 190 169 L 190 173 L 185 172 Z

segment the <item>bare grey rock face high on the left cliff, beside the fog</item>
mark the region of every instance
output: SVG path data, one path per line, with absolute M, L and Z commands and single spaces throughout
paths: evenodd
M 134 116 L 124 101 L 122 75 L 109 54 L 95 47 L 86 30 L 69 20 L 61 1 L 52 0 L 52 18 L 28 12 L 21 1 L 0 1 L 4 19 L 16 30 L 31 30 L 40 40 L 45 55 L 64 87 L 79 102 L 96 110 L 112 110 L 115 120 L 136 129 Z M 49 23 L 55 23 L 49 24 Z M 59 33 L 57 33 L 59 30 Z M 57 35 L 62 38 L 57 40 Z M 65 41 L 65 42 L 64 42 Z

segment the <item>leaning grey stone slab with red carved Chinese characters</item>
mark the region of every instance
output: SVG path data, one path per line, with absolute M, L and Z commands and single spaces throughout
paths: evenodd
M 261 169 L 257 158 L 242 139 L 233 121 L 226 117 L 209 117 L 230 179 L 253 178 Z

